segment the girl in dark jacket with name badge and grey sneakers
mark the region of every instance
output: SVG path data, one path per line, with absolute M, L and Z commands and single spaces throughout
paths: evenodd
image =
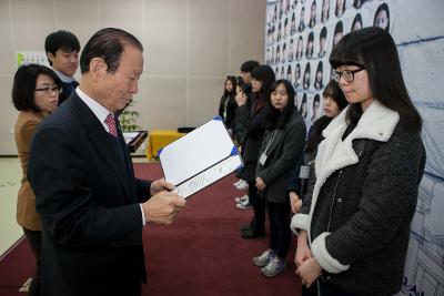
M 292 169 L 301 157 L 305 144 L 305 123 L 294 105 L 294 90 L 287 80 L 278 80 L 271 86 L 266 132 L 261 145 L 255 187 L 266 201 L 270 221 L 270 246 L 253 263 L 261 273 L 273 277 L 285 271 L 291 231 L 290 200 L 286 184 Z

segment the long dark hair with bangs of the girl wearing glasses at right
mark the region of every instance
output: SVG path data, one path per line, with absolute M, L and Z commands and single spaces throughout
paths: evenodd
M 422 119 L 408 95 L 401 71 L 400 58 L 391 34 L 367 27 L 344 35 L 330 55 L 332 69 L 341 65 L 365 67 L 373 99 L 400 114 L 400 126 L 407 132 L 421 132 Z M 363 111 L 351 104 L 347 121 L 357 122 Z

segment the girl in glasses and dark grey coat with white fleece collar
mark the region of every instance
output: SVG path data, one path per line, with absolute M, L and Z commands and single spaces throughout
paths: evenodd
M 422 120 L 386 31 L 349 33 L 330 63 L 350 105 L 323 131 L 310 214 L 292 218 L 296 274 L 320 279 L 321 296 L 393 295 L 425 165 Z

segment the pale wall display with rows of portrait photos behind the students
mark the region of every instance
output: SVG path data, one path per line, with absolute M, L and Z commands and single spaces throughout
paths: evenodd
M 268 0 L 265 61 L 290 80 L 310 125 L 322 115 L 329 55 L 346 33 L 387 30 L 397 47 L 408 93 L 423 118 L 427 153 L 402 289 L 398 295 L 444 295 L 444 1 Z

